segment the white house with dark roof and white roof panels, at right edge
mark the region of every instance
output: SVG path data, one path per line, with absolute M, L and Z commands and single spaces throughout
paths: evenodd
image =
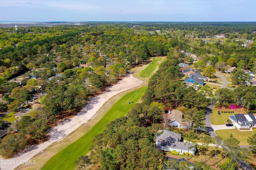
M 252 129 L 256 127 L 256 119 L 253 114 L 231 115 L 229 119 L 238 129 Z

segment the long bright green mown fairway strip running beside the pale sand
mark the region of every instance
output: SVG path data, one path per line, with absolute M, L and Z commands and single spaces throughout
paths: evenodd
M 95 135 L 102 133 L 105 125 L 110 121 L 115 120 L 118 117 L 125 116 L 128 111 L 134 106 L 138 100 L 145 93 L 147 87 L 139 88 L 133 92 L 126 94 L 122 97 L 116 104 L 114 104 L 108 112 L 102 117 L 102 119 L 88 131 L 85 135 L 83 135 L 80 139 L 64 148 L 58 154 L 54 155 L 50 160 L 44 164 L 42 170 L 73 170 L 76 167 L 74 164 L 75 160 L 82 155 L 86 155 L 91 145 L 92 139 Z M 133 101 L 133 104 L 128 104 L 128 102 Z

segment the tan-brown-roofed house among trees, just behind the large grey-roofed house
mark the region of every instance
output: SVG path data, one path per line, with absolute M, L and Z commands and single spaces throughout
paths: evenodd
M 191 125 L 189 125 L 189 122 L 182 119 L 182 114 L 183 113 L 181 111 L 176 109 L 170 111 L 170 113 L 167 114 L 167 118 L 170 120 L 169 125 L 174 127 L 190 128 Z

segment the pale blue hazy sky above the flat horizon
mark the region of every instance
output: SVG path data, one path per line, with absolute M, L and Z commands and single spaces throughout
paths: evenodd
M 0 0 L 1 21 L 256 21 L 256 0 Z

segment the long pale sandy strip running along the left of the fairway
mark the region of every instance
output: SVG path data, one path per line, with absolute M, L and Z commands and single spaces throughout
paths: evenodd
M 22 163 L 20 161 L 32 160 L 31 158 L 33 156 L 46 149 L 49 145 L 54 142 L 59 142 L 63 140 L 68 134 L 77 129 L 80 125 L 82 125 L 83 123 L 87 123 L 100 109 L 100 107 L 102 107 L 102 105 L 110 98 L 112 98 L 116 94 L 140 86 L 141 84 L 143 84 L 142 80 L 134 78 L 132 75 L 127 75 L 123 80 L 119 81 L 114 86 L 107 88 L 106 91 L 99 96 L 96 96 L 89 100 L 88 104 L 76 116 L 67 119 L 66 121 L 63 121 L 63 124 L 61 123 L 60 125 L 57 125 L 56 127 L 50 129 L 50 137 L 48 141 L 40 145 L 31 145 L 27 149 L 16 154 L 13 158 L 0 158 L 0 169 L 13 170 L 19 165 L 19 163 Z M 33 164 L 33 162 L 30 162 L 30 164 Z

